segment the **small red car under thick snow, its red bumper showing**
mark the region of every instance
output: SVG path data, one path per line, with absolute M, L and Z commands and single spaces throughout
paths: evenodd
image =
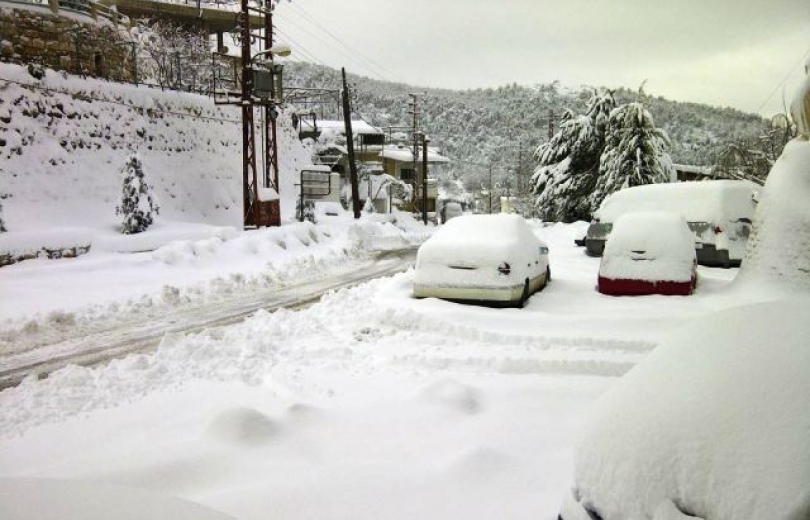
M 689 295 L 696 281 L 694 237 L 683 217 L 639 211 L 616 220 L 599 265 L 600 293 Z

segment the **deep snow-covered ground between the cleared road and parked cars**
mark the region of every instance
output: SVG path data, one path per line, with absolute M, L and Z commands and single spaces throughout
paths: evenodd
M 583 226 L 535 223 L 553 282 L 522 310 L 415 300 L 409 271 L 26 380 L 0 392 L 0 476 L 132 486 L 240 519 L 556 518 L 594 399 L 670 331 L 773 297 L 704 268 L 693 296 L 600 295 L 599 260 L 573 245 Z M 217 249 L 236 241 L 221 258 L 249 264 L 261 237 Z M 159 278 L 160 252 L 142 276 Z

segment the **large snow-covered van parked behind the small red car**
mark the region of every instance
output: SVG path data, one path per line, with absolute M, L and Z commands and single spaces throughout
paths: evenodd
M 701 265 L 740 265 L 756 209 L 755 186 L 746 181 L 649 184 L 609 195 L 594 214 L 585 247 L 601 256 L 613 223 L 635 211 L 671 211 L 682 215 L 695 238 Z

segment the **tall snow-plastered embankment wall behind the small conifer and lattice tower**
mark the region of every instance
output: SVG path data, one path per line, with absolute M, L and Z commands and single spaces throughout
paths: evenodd
M 113 228 L 120 170 L 137 153 L 166 221 L 241 227 L 238 107 L 196 94 L 78 78 L 0 64 L 0 177 L 12 231 L 54 226 Z M 282 216 L 310 152 L 279 117 Z

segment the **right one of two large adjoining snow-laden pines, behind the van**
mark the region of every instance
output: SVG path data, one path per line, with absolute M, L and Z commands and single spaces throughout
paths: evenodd
M 639 102 L 614 109 L 608 120 L 605 149 L 599 160 L 599 178 L 593 207 L 611 193 L 630 186 L 669 182 L 674 175 L 667 153 L 669 136 L 656 128 Z

